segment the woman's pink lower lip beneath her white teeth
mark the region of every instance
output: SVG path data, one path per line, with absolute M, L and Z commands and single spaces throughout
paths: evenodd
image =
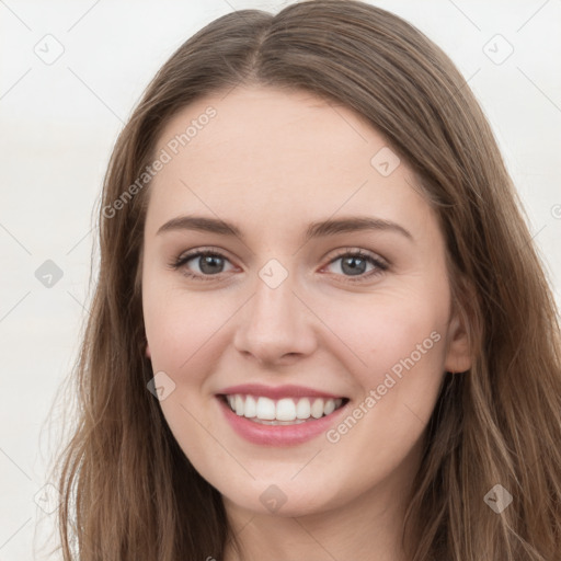
M 264 425 L 236 414 L 221 397 L 217 397 L 226 420 L 243 438 L 262 446 L 294 446 L 325 433 L 348 405 L 339 408 L 330 415 L 295 425 Z

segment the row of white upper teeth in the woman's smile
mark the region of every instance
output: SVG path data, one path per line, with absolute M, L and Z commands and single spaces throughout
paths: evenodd
M 343 404 L 343 399 L 323 399 L 323 398 L 283 398 L 278 401 L 264 397 L 253 396 L 227 396 L 230 409 L 239 416 L 253 419 L 254 421 L 276 421 L 296 423 L 309 420 L 310 417 L 320 419 L 323 415 L 330 415 Z

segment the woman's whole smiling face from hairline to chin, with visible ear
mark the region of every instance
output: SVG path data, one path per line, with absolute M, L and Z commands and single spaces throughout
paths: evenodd
M 262 88 L 193 103 L 157 156 L 147 355 L 186 457 L 232 508 L 396 501 L 444 371 L 470 366 L 405 163 L 353 111 Z

